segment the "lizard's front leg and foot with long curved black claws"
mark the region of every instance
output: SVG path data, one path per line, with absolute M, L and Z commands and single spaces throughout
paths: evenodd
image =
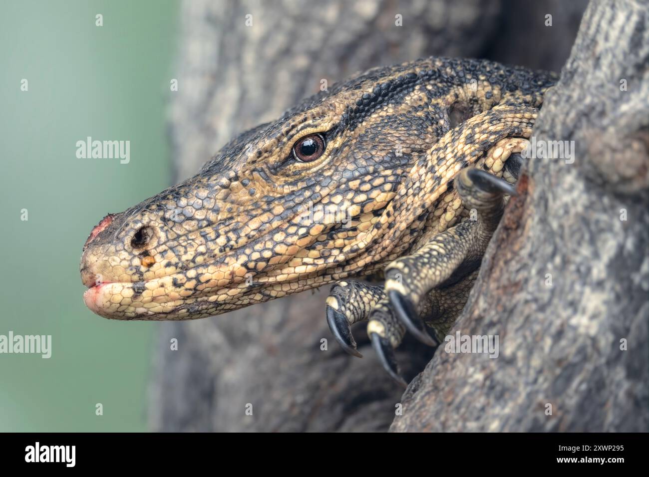
M 511 183 L 517 178 L 519 159 L 511 158 L 511 154 L 519 153 L 525 144 L 520 138 L 500 140 L 476 162 L 478 169 L 463 169 L 459 173 L 456 192 L 447 193 L 435 208 L 438 214 L 434 228 L 447 230 L 415 247 L 410 256 L 387 265 L 385 287 L 353 280 L 343 280 L 332 287 L 326 300 L 327 321 L 343 349 L 361 356 L 350 325 L 369 319 L 367 332 L 374 350 L 386 371 L 404 384 L 394 349 L 406 328 L 420 341 L 435 346 L 424 323 L 433 328 L 437 341 L 442 341 L 454 324 L 500 221 L 503 195 L 514 193 Z M 460 203 L 464 209 L 459 207 Z M 454 225 L 465 209 L 471 210 L 469 221 Z

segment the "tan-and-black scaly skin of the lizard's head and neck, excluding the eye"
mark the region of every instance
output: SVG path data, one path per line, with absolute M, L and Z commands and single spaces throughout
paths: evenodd
M 452 180 L 485 157 L 502 175 L 496 143 L 530 136 L 555 80 L 447 58 L 356 75 L 104 217 L 84 301 L 111 319 L 196 319 L 380 272 L 463 220 Z M 300 162 L 293 145 L 315 133 L 324 153 Z

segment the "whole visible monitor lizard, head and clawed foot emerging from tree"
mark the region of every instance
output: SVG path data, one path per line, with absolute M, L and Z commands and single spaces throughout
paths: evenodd
M 84 302 L 110 319 L 186 320 L 333 284 L 337 341 L 360 356 L 350 326 L 367 321 L 405 384 L 393 350 L 406 330 L 435 345 L 458 317 L 556 80 L 456 58 L 354 75 L 106 215 L 83 246 Z

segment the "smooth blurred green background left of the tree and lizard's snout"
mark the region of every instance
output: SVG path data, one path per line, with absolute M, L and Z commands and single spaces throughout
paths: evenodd
M 52 335 L 49 360 L 0 354 L 0 431 L 146 430 L 155 324 L 86 309 L 79 258 L 105 214 L 169 185 L 178 3 L 0 5 L 0 334 Z M 86 136 L 130 140 L 130 163 L 78 159 Z

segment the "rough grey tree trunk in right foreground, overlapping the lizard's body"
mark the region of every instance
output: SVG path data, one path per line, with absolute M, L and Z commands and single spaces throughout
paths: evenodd
M 440 347 L 393 431 L 649 430 L 648 3 L 589 5 L 533 136 L 574 163 L 530 160 L 451 332 L 500 356 Z

